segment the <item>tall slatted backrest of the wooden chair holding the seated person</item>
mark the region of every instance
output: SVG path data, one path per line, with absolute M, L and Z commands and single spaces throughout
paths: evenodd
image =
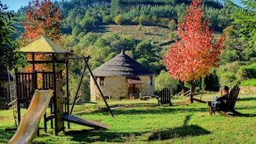
M 230 90 L 229 95 L 229 101 L 226 103 L 228 109 L 234 109 L 235 102 L 237 102 L 237 97 L 240 92 L 240 87 L 239 85 L 235 85 L 232 90 Z

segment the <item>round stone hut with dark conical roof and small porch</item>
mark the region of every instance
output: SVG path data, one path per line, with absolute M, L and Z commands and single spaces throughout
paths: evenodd
M 153 95 L 155 72 L 125 54 L 125 51 L 93 70 L 104 97 L 112 100 L 136 99 L 140 95 Z M 90 99 L 101 99 L 97 85 L 90 77 Z

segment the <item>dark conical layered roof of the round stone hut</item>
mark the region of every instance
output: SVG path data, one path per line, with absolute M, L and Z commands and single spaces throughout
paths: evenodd
M 100 65 L 100 67 L 93 70 L 94 76 L 126 76 L 137 77 L 145 75 L 155 75 L 151 69 L 144 67 L 136 60 L 132 59 L 125 54 L 124 51 L 120 52 L 117 56 L 110 59 L 108 62 Z

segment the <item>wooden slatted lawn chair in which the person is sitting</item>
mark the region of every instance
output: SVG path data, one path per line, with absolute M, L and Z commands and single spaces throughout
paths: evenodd
M 208 101 L 208 110 L 209 115 L 212 115 L 214 112 L 219 113 L 220 115 L 224 115 L 226 117 L 231 117 L 232 115 L 229 115 L 227 112 L 232 112 L 234 115 L 242 115 L 242 113 L 237 112 L 234 110 L 235 102 L 237 102 L 237 97 L 240 92 L 239 85 L 235 85 L 232 90 L 230 90 L 229 95 L 227 96 L 229 100 L 224 101 L 224 107 L 222 109 L 213 110 L 214 107 L 212 107 L 213 101 Z

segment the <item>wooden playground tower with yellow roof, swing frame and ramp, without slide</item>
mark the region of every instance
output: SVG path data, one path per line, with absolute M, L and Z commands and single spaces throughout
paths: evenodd
M 16 107 L 17 107 L 17 119 L 21 122 L 21 108 L 29 107 L 35 91 L 37 90 L 52 90 L 52 98 L 49 101 L 49 113 L 44 113 L 44 130 L 47 132 L 47 123 L 50 122 L 50 127 L 54 129 L 55 135 L 62 130 L 65 130 L 65 121 L 67 121 L 67 128 L 70 128 L 70 123 L 77 123 L 79 125 L 85 125 L 91 128 L 108 128 L 108 125 L 96 122 L 94 120 L 86 120 L 80 117 L 76 117 L 72 114 L 72 109 L 75 105 L 75 100 L 78 97 L 78 91 L 82 82 L 82 77 L 80 80 L 79 87 L 77 87 L 77 93 L 74 98 L 74 102 L 70 107 L 70 92 L 69 92 L 69 72 L 68 66 L 71 59 L 82 59 L 85 61 L 85 68 L 82 76 L 85 73 L 85 69 L 88 69 L 90 75 L 93 73 L 88 65 L 90 57 L 70 57 L 70 52 L 63 49 L 59 45 L 52 42 L 52 40 L 47 39 L 47 37 L 40 36 L 34 39 L 32 42 L 26 44 L 22 47 L 22 52 L 26 53 L 28 56 L 32 57 L 32 60 L 28 62 L 32 64 L 32 72 L 16 72 Z M 47 54 L 47 59 L 36 59 L 38 55 Z M 51 70 L 49 71 L 37 71 L 36 64 L 48 64 L 51 65 Z M 65 71 L 57 70 L 57 64 L 65 65 Z M 65 73 L 65 75 L 64 75 Z M 64 78 L 65 77 L 65 78 Z M 65 82 L 66 95 L 63 95 L 62 87 Z M 95 84 L 98 83 L 95 80 Z M 98 89 L 105 105 L 108 107 L 110 114 L 113 113 L 108 106 L 103 93 L 100 88 Z

